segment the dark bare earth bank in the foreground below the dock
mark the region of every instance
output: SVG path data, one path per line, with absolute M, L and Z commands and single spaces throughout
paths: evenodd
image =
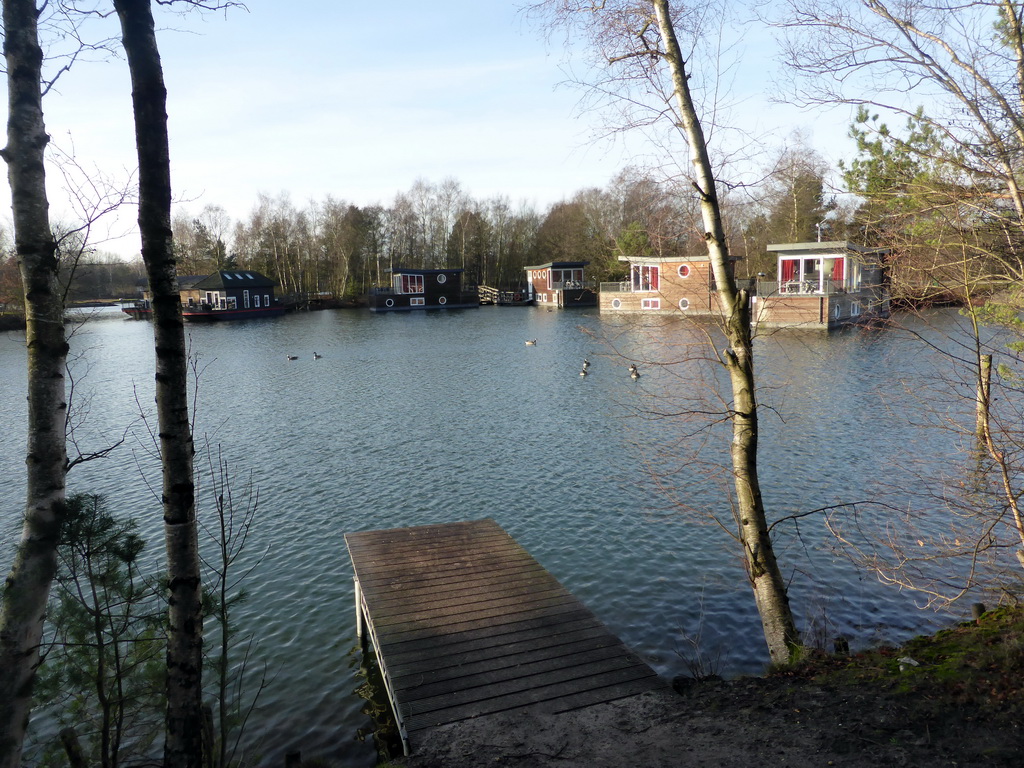
M 870 686 L 786 678 L 701 683 L 563 715 L 480 718 L 439 729 L 411 768 L 562 766 L 1020 766 L 1020 719 L 982 717 Z

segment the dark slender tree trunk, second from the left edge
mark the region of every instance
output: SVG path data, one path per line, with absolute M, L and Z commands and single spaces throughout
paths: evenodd
M 195 454 L 188 420 L 188 356 L 171 237 L 167 89 L 151 0 L 114 0 L 131 72 L 138 150 L 138 224 L 153 292 L 156 391 L 167 549 L 166 768 L 203 765 L 203 614 L 196 526 Z

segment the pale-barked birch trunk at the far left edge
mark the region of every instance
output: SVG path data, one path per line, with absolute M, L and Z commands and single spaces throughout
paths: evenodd
M 22 540 L 0 609 L 0 768 L 20 764 L 39 666 L 39 643 L 65 513 L 68 412 L 63 300 L 50 230 L 43 155 L 41 69 L 35 0 L 4 0 L 7 163 L 14 246 L 25 289 L 28 346 L 27 494 Z

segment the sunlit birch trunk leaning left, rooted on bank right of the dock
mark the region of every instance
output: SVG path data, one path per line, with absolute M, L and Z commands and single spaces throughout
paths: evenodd
M 694 183 L 700 200 L 705 242 L 715 274 L 716 292 L 723 313 L 729 348 L 723 358 L 732 385 L 732 474 L 738 508 L 739 539 L 743 547 L 746 574 L 754 589 L 768 652 L 775 664 L 788 662 L 800 644 L 797 625 L 790 607 L 765 516 L 758 481 L 758 401 L 754 379 L 753 332 L 750 297 L 736 288 L 733 262 L 725 241 L 722 213 L 703 129 L 690 94 L 686 61 L 676 39 L 668 0 L 652 0 L 665 58 L 672 73 L 683 131 L 689 143 Z

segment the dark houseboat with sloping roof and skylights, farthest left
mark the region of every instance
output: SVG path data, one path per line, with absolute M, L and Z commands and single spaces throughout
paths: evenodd
M 221 269 L 181 289 L 181 315 L 189 322 L 274 317 L 285 305 L 273 281 L 252 269 Z

